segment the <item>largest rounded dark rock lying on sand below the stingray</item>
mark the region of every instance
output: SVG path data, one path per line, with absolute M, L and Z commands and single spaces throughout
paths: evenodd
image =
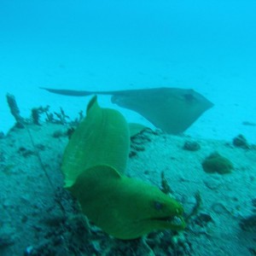
M 225 174 L 230 173 L 234 169 L 230 160 L 217 152 L 207 156 L 201 165 L 203 170 L 208 173 L 218 172 L 219 174 Z

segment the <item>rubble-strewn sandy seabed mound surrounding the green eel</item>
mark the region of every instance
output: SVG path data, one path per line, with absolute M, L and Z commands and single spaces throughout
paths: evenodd
M 126 174 L 160 187 L 163 172 L 185 215 L 197 211 L 183 231 L 119 241 L 88 225 L 62 188 L 67 128 L 26 125 L 0 139 L 1 255 L 255 255 L 255 149 L 161 132 L 135 137 Z M 201 148 L 184 150 L 187 141 Z M 203 171 L 202 161 L 216 151 L 232 162 L 232 172 Z

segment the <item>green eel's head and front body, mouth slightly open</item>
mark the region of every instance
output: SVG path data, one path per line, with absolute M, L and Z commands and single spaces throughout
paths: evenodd
M 94 166 L 69 188 L 84 214 L 102 230 L 128 240 L 154 230 L 183 230 L 183 207 L 160 189 L 121 176 L 111 166 Z

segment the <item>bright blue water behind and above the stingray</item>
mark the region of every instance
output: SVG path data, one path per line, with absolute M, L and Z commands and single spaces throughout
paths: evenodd
M 24 116 L 48 104 L 72 116 L 88 99 L 38 87 L 170 86 L 192 88 L 215 103 L 188 134 L 230 139 L 243 133 L 255 143 L 256 127 L 241 125 L 256 123 L 255 13 L 253 0 L 1 0 L 0 131 L 14 123 L 7 92 Z M 100 101 L 110 104 L 108 97 Z

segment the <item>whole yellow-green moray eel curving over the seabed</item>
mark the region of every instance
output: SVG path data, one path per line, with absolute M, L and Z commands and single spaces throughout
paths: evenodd
M 128 240 L 153 230 L 182 230 L 183 207 L 160 189 L 126 177 L 128 124 L 93 97 L 64 153 L 65 186 L 82 212 L 109 235 Z

